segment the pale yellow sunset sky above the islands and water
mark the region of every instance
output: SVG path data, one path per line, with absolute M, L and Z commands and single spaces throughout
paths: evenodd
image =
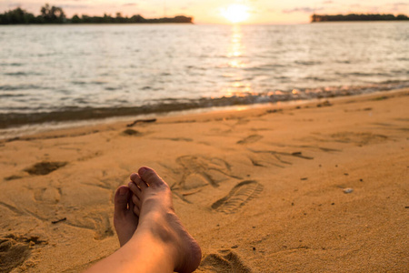
M 188 15 L 195 24 L 229 24 L 223 10 L 229 5 L 246 7 L 242 24 L 304 24 L 310 15 L 381 13 L 409 15 L 408 0 L 0 0 L 0 12 L 17 6 L 35 15 L 45 3 L 60 6 L 72 15 L 142 15 L 145 18 Z

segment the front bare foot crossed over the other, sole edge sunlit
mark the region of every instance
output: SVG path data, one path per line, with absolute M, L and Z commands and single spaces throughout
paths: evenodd
M 176 272 L 195 271 L 202 251 L 176 216 L 169 186 L 149 167 L 141 167 L 131 180 L 128 187 L 134 193 L 134 213 L 139 215 L 136 233 L 155 238 L 166 249 Z M 136 233 L 134 238 L 137 240 Z

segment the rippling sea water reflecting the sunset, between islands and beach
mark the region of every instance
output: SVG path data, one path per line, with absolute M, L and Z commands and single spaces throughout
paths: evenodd
M 0 26 L 0 128 L 409 86 L 407 22 Z

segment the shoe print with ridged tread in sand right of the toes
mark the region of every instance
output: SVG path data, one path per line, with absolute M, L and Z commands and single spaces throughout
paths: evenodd
M 234 186 L 225 197 L 215 201 L 212 208 L 225 214 L 234 213 L 239 207 L 244 206 L 248 201 L 257 197 L 262 191 L 263 185 L 257 181 L 245 180 Z

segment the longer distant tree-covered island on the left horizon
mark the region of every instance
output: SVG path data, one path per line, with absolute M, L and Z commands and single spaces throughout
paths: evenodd
M 72 18 L 67 18 L 61 7 L 50 6 L 45 4 L 41 8 L 41 15 L 33 15 L 27 13 L 21 7 L 0 14 L 0 25 L 28 25 L 28 24 L 152 24 L 152 23 L 193 23 L 193 17 L 175 16 L 173 18 L 154 18 L 145 19 L 141 15 L 133 15 L 131 17 L 123 17 L 121 13 L 116 13 L 116 16 L 88 16 L 74 15 Z

